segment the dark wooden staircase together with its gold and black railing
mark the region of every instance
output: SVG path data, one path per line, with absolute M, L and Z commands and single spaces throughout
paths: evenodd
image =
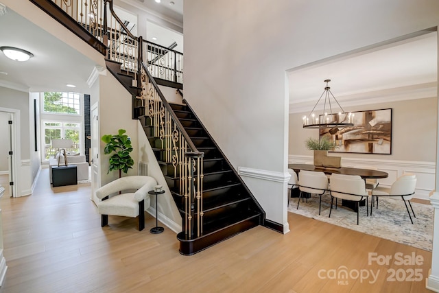
M 31 1 L 38 2 L 49 14 L 53 10 L 49 5 L 53 6 L 54 2 L 50 0 Z M 131 93 L 132 119 L 141 122 L 182 215 L 182 232 L 177 235 L 180 253 L 193 255 L 254 226 L 266 224 L 263 209 L 188 102 L 169 104 L 166 101 L 143 62 L 142 38 L 130 34 L 112 10 L 110 0 L 98 6 L 103 7 L 104 22 L 106 5 L 111 12 L 108 17 L 114 18 L 108 23 L 118 24 L 107 27 L 103 23 L 100 26 L 103 29 L 93 36 L 94 43 L 99 40 L 106 44 L 107 69 Z M 58 10 L 66 25 L 66 16 Z M 78 30 L 78 25 L 66 27 Z M 177 67 L 174 69 L 177 72 Z

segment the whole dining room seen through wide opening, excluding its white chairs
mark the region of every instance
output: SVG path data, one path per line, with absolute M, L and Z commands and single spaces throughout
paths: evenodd
M 437 42 L 436 31 L 418 32 L 287 73 L 288 167 L 298 175 L 289 212 L 431 251 Z M 324 161 L 316 159 L 320 152 Z M 327 176 L 326 191 L 300 193 L 300 172 L 310 171 Z M 414 176 L 412 203 L 389 197 L 378 203 L 372 187 L 366 189 L 367 204 L 365 198 L 357 206 L 340 200 L 334 210 L 332 174 L 359 176 L 365 185 L 373 179 L 375 187 L 387 190 Z

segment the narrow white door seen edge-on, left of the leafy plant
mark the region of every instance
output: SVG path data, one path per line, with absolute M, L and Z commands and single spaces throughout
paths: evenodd
M 93 202 L 97 204 L 100 200 L 95 195 L 95 190 L 101 186 L 99 168 L 99 117 L 98 103 L 91 106 L 91 188 L 93 192 Z

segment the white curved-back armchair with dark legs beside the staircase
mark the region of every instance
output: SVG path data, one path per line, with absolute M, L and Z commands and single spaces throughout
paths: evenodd
M 145 228 L 145 209 L 150 207 L 148 191 L 156 185 L 157 181 L 150 176 L 126 176 L 97 189 L 96 196 L 102 200 L 97 204 L 97 211 L 102 215 L 101 226 L 108 225 L 108 215 L 139 217 L 139 231 L 142 231 Z M 132 192 L 134 189 L 137 191 Z

